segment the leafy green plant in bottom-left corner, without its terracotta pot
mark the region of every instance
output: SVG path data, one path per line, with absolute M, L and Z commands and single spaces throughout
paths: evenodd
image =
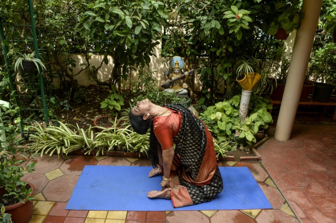
M 34 199 L 29 196 L 32 189 L 27 189 L 27 182 L 21 180 L 26 172 L 32 173 L 36 162 L 25 163 L 30 156 L 18 148 L 23 139 L 18 137 L 17 123 L 20 118 L 14 117 L 17 111 L 18 107 L 6 109 L 4 106 L 1 106 L 0 111 L 3 123 L 0 125 L 0 132 L 6 134 L 6 140 L 1 142 L 0 147 L 0 187 L 4 187 L 6 193 L 1 197 L 0 204 L 5 206 Z

